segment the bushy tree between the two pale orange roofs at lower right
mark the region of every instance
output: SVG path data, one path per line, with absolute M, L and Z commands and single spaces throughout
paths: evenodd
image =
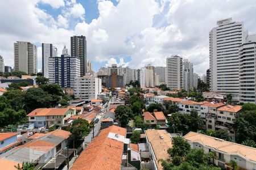
M 184 138 L 175 137 L 173 138 L 172 148 L 169 148 L 167 152 L 171 157 L 180 156 L 183 158 L 190 149 L 189 143 Z

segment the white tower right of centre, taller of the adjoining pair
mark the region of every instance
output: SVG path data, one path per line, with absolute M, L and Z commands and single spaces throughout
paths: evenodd
M 166 83 L 171 90 L 183 88 L 183 62 L 180 56 L 166 59 Z

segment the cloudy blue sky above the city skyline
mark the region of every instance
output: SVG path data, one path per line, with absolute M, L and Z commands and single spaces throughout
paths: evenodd
M 15 41 L 42 42 L 58 54 L 70 37 L 84 35 L 93 70 L 117 63 L 138 69 L 166 66 L 166 57 L 188 58 L 199 75 L 209 68 L 209 31 L 233 18 L 256 33 L 255 0 L 8 0 L 0 1 L 0 55 L 14 66 Z

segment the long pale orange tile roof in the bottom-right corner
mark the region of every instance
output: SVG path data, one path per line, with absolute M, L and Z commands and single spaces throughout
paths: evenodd
M 229 154 L 238 154 L 247 160 L 256 162 L 256 148 L 240 145 L 228 141 L 218 141 L 214 137 L 195 132 L 189 132 L 184 139 L 192 142 L 199 142 L 205 146 L 215 148 L 216 150 Z

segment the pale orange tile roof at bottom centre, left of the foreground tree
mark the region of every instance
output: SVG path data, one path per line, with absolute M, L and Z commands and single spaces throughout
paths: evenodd
M 168 159 L 170 155 L 167 153 L 168 148 L 172 147 L 172 138 L 166 130 L 145 130 L 148 142 L 152 146 L 155 154 L 155 162 L 159 159 Z M 160 138 L 163 137 L 162 139 Z M 158 169 L 162 169 L 162 165 L 156 164 Z

